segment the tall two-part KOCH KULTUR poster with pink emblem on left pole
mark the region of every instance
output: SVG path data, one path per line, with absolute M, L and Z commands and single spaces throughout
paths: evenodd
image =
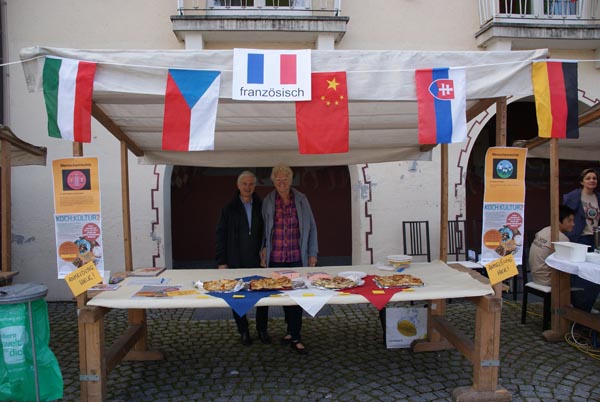
M 93 262 L 104 275 L 97 158 L 52 161 L 58 278 Z

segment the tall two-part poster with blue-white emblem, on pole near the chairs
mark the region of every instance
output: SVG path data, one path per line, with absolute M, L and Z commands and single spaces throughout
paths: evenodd
M 526 160 L 525 148 L 492 147 L 486 153 L 481 235 L 484 265 L 507 255 L 521 264 Z

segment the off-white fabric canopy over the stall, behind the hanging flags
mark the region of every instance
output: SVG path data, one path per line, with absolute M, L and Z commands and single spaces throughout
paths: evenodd
M 547 50 L 509 52 L 313 50 L 312 71 L 346 71 L 350 151 L 300 155 L 293 102 L 231 99 L 232 50 L 21 50 L 30 91 L 42 88 L 43 56 L 98 63 L 93 115 L 127 142 L 141 163 L 195 166 L 347 165 L 429 160 L 417 140 L 415 69 L 465 67 L 467 108 L 503 96 L 530 96 L 532 60 Z M 161 150 L 167 69 L 219 70 L 215 151 Z

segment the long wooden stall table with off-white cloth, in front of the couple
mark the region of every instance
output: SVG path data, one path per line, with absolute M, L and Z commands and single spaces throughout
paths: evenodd
M 296 268 L 300 274 L 315 271 L 315 268 Z M 364 271 L 367 274 L 386 275 L 372 265 L 320 267 L 318 270 L 335 274 L 341 271 Z M 217 278 L 239 278 L 251 275 L 269 276 L 271 269 L 203 269 L 167 270 L 161 277 L 170 278 L 169 284 L 182 285 L 182 290 L 192 289 L 197 280 Z M 405 273 L 423 280 L 425 286 L 411 292 L 396 293 L 390 301 L 429 300 L 428 339 L 413 345 L 415 352 L 458 349 L 473 364 L 473 385 L 453 390 L 455 400 L 460 401 L 509 401 L 510 393 L 498 387 L 500 367 L 500 315 L 501 293 L 492 289 L 487 279 L 469 269 L 449 267 L 441 261 L 412 264 Z M 172 298 L 132 298 L 140 286 L 123 286 L 116 291 L 102 292 L 89 299 L 78 298 L 79 308 L 79 355 L 81 372 L 81 401 L 105 401 L 107 397 L 108 373 L 123 359 L 157 360 L 162 358 L 158 351 L 148 349 L 146 309 L 149 308 L 208 308 L 228 307 L 217 297 L 198 295 Z M 462 334 L 444 317 L 446 298 L 466 298 L 476 305 L 474 339 Z M 368 303 L 361 295 L 332 296 L 328 304 Z M 262 298 L 257 306 L 293 305 L 287 296 Z M 111 308 L 127 309 L 128 329 L 115 340 L 113 345 L 104 345 L 104 317 Z

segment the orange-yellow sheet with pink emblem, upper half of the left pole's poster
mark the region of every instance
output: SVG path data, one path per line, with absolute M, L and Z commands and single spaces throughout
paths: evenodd
M 100 212 L 97 158 L 52 161 L 56 214 Z

